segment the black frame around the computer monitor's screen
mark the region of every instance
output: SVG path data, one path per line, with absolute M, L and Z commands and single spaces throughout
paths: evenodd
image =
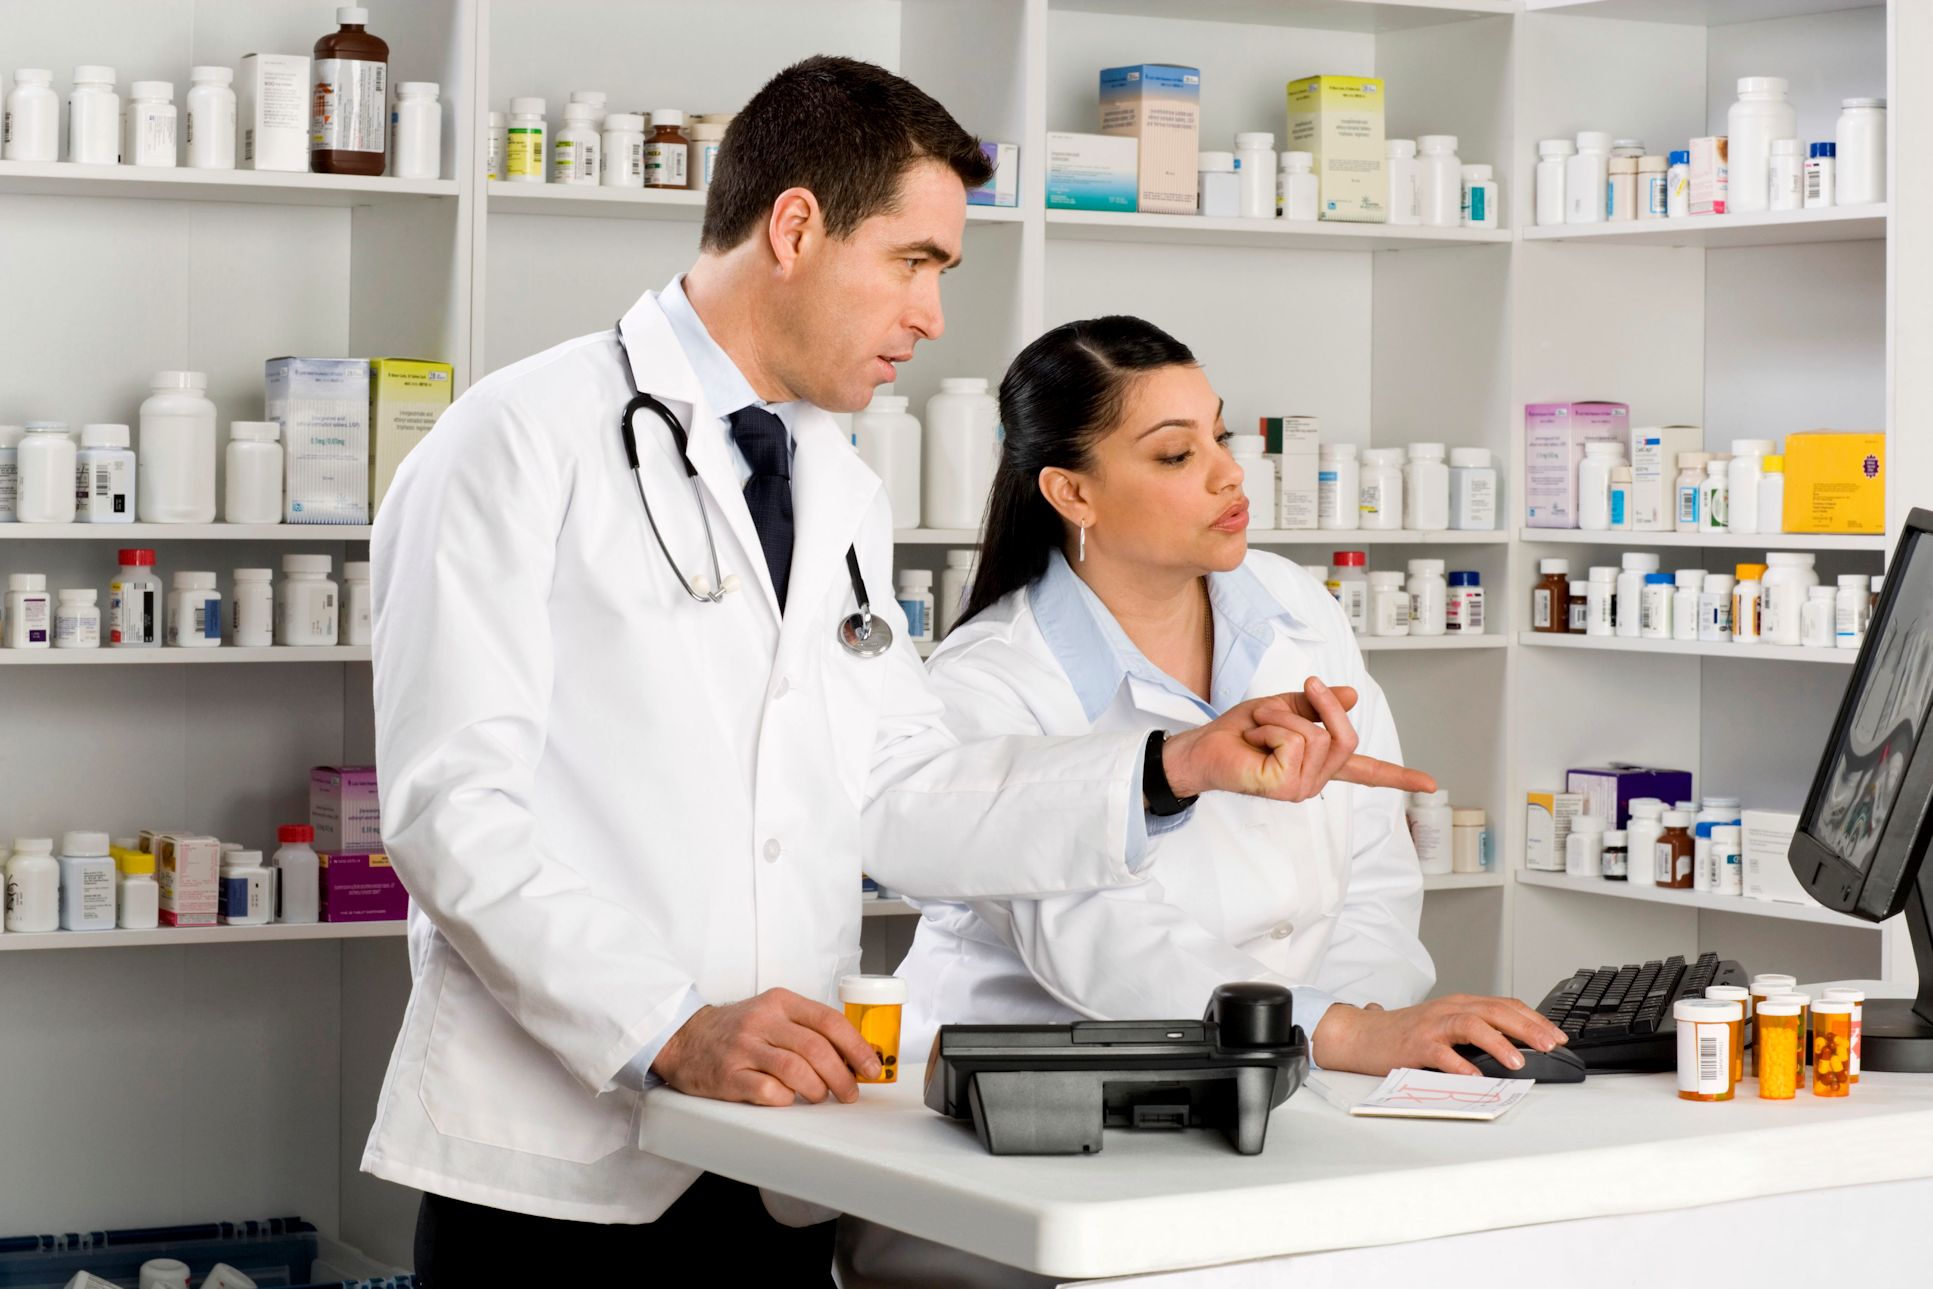
M 1873 620 L 1865 628 L 1865 644 L 1860 645 L 1860 657 L 1852 665 L 1846 692 L 1838 700 L 1838 715 L 1832 719 L 1825 752 L 1819 758 L 1819 767 L 1813 771 L 1811 790 L 1805 794 L 1805 808 L 1800 812 L 1800 827 L 1792 835 L 1792 846 L 1786 852 L 1792 874 L 1815 901 L 1867 922 L 1885 922 L 1906 908 L 1919 864 L 1925 860 L 1929 831 L 1933 831 L 1929 827 L 1933 825 L 1933 746 L 1929 746 L 1933 738 L 1923 736 L 1921 742 L 1914 744 L 1892 814 L 1887 816 L 1887 827 L 1881 831 L 1871 862 L 1863 872 L 1840 858 L 1825 841 L 1807 833 L 1805 825 L 1815 817 L 1819 802 L 1825 800 L 1840 738 L 1852 723 L 1856 698 L 1865 690 L 1865 682 L 1873 671 L 1873 647 L 1885 634 L 1885 624 L 1892 618 L 1894 603 L 1902 591 L 1902 582 L 1896 574 L 1906 568 L 1910 553 L 1921 541 L 1927 543 L 1927 549 L 1919 551 L 1919 559 L 1933 560 L 1933 510 L 1914 510 L 1906 516 L 1898 545 L 1894 545 L 1892 557 L 1887 562 L 1887 580 L 1879 593 L 1879 605 L 1873 609 Z M 1927 698 L 1927 705 L 1919 713 L 1921 730 L 1927 729 L 1929 719 L 1933 719 L 1933 696 Z M 1912 814 L 1904 814 L 1902 806 Z

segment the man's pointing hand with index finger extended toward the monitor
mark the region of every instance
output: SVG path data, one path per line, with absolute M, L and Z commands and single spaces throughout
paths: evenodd
M 1357 694 L 1311 676 L 1301 694 L 1274 694 L 1229 707 L 1208 725 L 1171 734 L 1162 769 L 1175 796 L 1241 792 L 1305 802 L 1332 781 L 1434 792 L 1421 769 L 1357 754 L 1349 709 Z

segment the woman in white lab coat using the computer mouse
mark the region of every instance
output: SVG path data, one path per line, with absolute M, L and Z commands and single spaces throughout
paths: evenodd
M 1222 404 L 1183 344 L 1131 317 L 1069 323 L 1015 359 L 999 410 L 980 566 L 930 663 L 961 738 L 1185 730 L 1307 690 L 1332 713 L 1307 734 L 1330 759 L 1401 763 L 1336 601 L 1249 549 Z M 945 1022 L 1200 1015 L 1227 980 L 1289 986 L 1326 1069 L 1475 1073 L 1456 1044 L 1515 1065 L 1519 1044 L 1560 1042 L 1514 999 L 1423 1003 L 1434 968 L 1403 796 L 1349 779 L 1301 802 L 1204 796 L 1185 827 L 1156 831 L 1160 862 L 1137 885 L 924 904 L 901 966 L 905 1047 Z

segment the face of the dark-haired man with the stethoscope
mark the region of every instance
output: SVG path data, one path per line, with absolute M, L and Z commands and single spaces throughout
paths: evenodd
M 966 187 L 949 166 L 920 160 L 901 176 L 897 209 L 847 240 L 806 240 L 777 292 L 783 356 L 771 365 L 796 396 L 858 412 L 895 379 L 920 340 L 945 330 L 939 276 L 959 263 Z

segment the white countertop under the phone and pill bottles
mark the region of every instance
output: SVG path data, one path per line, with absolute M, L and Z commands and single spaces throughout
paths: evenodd
M 920 1100 L 924 1067 L 856 1105 L 764 1109 L 657 1090 L 642 1146 L 1061 1277 L 1127 1275 L 1541 1221 L 1933 1177 L 1933 1078 L 1680 1102 L 1670 1074 L 1537 1088 L 1496 1123 L 1353 1119 L 1314 1088 L 1260 1156 L 1220 1132 L 1110 1129 L 1096 1156 L 990 1156 Z M 1343 1076 L 1336 1082 L 1345 1082 Z M 1374 1086 L 1376 1080 L 1363 1080 Z

